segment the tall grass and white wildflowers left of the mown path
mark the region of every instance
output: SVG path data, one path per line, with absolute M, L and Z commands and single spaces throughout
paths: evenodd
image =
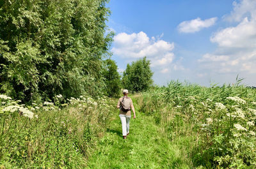
M 0 168 L 86 167 L 113 104 L 83 96 L 62 101 L 58 96 L 55 103 L 33 104 L 28 118 L 20 109 L 25 105 L 0 98 Z

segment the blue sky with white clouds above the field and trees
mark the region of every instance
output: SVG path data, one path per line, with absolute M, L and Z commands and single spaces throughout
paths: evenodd
M 154 84 L 256 86 L 256 0 L 110 0 L 112 57 L 150 60 Z

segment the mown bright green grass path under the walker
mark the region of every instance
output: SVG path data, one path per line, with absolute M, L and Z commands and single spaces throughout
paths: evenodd
M 132 98 L 136 119 L 131 119 L 130 134 L 122 137 L 118 110 L 111 115 L 105 136 L 88 159 L 88 168 L 190 168 L 176 145 L 163 135 L 154 118 L 140 112 Z M 116 101 L 117 103 L 117 101 Z

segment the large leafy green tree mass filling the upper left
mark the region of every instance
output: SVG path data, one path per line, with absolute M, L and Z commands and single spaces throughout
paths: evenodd
M 104 88 L 106 0 L 0 1 L 0 87 L 28 100 Z M 32 95 L 33 94 L 33 95 Z

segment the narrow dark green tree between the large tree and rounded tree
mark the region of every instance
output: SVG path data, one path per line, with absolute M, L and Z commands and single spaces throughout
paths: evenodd
M 110 97 L 119 95 L 121 89 L 121 77 L 117 71 L 116 62 L 111 59 L 104 61 L 104 72 L 106 94 Z

